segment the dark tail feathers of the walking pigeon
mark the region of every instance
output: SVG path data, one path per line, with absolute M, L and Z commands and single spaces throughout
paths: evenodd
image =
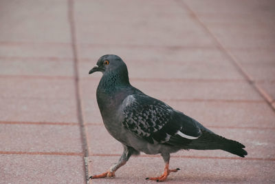
M 188 144 L 188 149 L 195 150 L 224 150 L 241 157 L 248 154 L 243 148 L 245 146 L 237 141 L 225 139 L 223 136 L 202 130 L 199 139 L 193 140 Z

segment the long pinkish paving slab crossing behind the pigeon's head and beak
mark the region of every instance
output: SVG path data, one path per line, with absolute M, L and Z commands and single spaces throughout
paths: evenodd
M 146 65 L 147 64 L 147 65 Z M 88 77 L 87 71 L 94 63 L 80 63 L 80 77 Z M 144 67 L 146 65 L 146 67 Z M 230 63 L 217 62 L 186 62 L 150 64 L 148 61 L 127 63 L 129 78 L 147 79 L 216 79 L 216 80 L 242 80 L 243 76 Z M 91 77 L 91 76 L 90 76 Z

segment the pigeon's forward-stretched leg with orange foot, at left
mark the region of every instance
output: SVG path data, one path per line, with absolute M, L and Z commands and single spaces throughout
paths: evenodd
M 115 165 L 110 167 L 107 172 L 104 172 L 102 174 L 98 174 L 95 176 L 90 176 L 89 179 L 114 177 L 115 171 L 118 170 L 122 165 L 124 165 L 129 160 L 129 158 L 132 154 L 133 154 L 133 148 L 124 145 L 124 151 L 123 151 L 122 156 L 120 157 L 120 160 L 118 161 L 118 163 L 115 163 Z

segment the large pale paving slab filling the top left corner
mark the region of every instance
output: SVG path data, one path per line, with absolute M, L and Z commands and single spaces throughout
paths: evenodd
M 0 41 L 71 41 L 65 0 L 5 0 L 0 12 Z

